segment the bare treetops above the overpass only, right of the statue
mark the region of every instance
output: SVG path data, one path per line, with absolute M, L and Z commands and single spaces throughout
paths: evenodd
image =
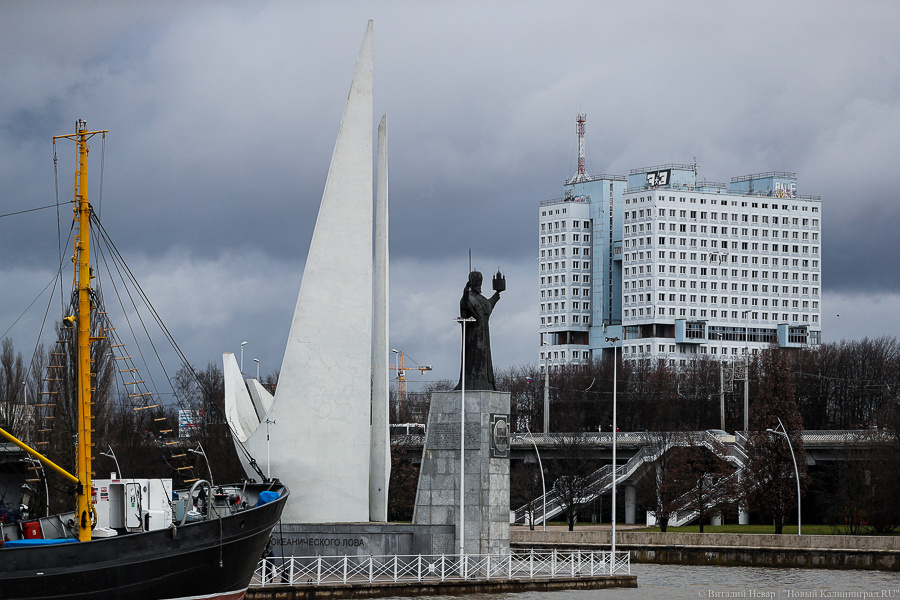
M 842 341 L 810 349 L 768 350 L 786 361 L 792 399 L 804 429 L 865 429 L 886 425 L 900 400 L 900 343 L 894 337 Z M 766 354 L 764 353 L 764 354 Z M 719 362 L 696 355 L 685 366 L 664 361 L 623 361 L 618 365 L 618 425 L 622 431 L 700 431 L 720 425 L 724 387 L 726 429 L 743 429 L 742 369 L 727 369 L 724 385 Z M 743 363 L 738 360 L 738 366 Z M 749 364 L 753 404 L 765 393 L 761 355 Z M 608 431 L 612 424 L 612 363 L 553 368 L 550 373 L 550 430 Z M 737 373 L 738 377 L 728 376 Z M 497 373 L 497 387 L 509 391 L 517 429 L 539 431 L 543 423 L 544 374 L 537 365 Z M 767 423 L 774 427 L 777 423 Z M 798 423 L 799 424 L 799 423 Z M 753 427 L 751 427 L 753 429 Z M 765 429 L 765 428 L 764 428 Z

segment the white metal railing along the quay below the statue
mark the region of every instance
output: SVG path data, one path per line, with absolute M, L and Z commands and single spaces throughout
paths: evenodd
M 612 564 L 611 564 L 612 563 Z M 505 554 L 291 556 L 264 558 L 251 587 L 630 575 L 631 555 L 605 550 Z

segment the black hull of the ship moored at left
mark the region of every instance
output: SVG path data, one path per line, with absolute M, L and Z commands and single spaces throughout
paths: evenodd
M 268 487 L 268 486 L 267 486 Z M 281 487 L 281 486 L 279 486 Z M 147 533 L 0 550 L 0 598 L 163 600 L 209 598 L 250 584 L 287 490 L 221 519 Z

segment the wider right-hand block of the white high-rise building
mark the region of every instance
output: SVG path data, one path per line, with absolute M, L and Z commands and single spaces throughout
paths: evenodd
M 625 358 L 679 366 L 821 341 L 821 206 L 795 173 L 698 182 L 695 165 L 634 169 L 623 195 Z

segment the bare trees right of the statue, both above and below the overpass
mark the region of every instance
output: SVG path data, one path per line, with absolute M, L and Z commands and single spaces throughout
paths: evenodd
M 900 345 L 895 338 L 793 351 L 773 347 L 751 357 L 746 368 L 748 457 L 740 477 L 722 452 L 694 443 L 684 432 L 718 429 L 723 388 L 726 427 L 743 429 L 743 378 L 723 383 L 719 363 L 702 355 L 679 368 L 650 361 L 627 361 L 617 368 L 619 429 L 646 429 L 656 446 L 668 448 L 639 485 L 643 504 L 663 528 L 676 511 L 694 511 L 702 524 L 709 514 L 733 515 L 741 509 L 774 523 L 780 533 L 797 509 L 793 458 L 801 494 L 812 482 L 800 439 L 803 429 L 872 432 L 849 445 L 843 460 L 819 473 L 824 482 L 815 489 L 822 518 L 855 532 L 880 533 L 900 525 Z M 593 510 L 579 502 L 598 466 L 582 456 L 576 434 L 609 430 L 612 372 L 611 361 L 605 360 L 550 373 L 550 430 L 571 433 L 565 437 L 576 442 L 560 442 L 568 447 L 557 449 L 560 459 L 547 461 L 545 474 L 557 481 L 553 489 L 570 527 L 579 510 Z M 498 386 L 512 393 L 512 420 L 519 431 L 542 427 L 543 377 L 537 367 L 498 376 Z M 530 461 L 514 466 L 513 501 L 521 502 L 518 506 L 535 498 L 535 474 Z

